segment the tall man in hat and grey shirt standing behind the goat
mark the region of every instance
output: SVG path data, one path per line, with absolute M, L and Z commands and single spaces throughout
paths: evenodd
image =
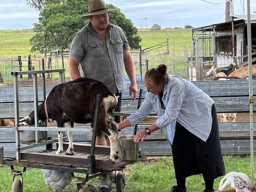
M 108 13 L 115 9 L 108 9 L 102 0 L 89 2 L 89 13 L 82 19 L 90 22 L 79 30 L 73 40 L 69 52 L 68 70 L 71 78 L 93 78 L 102 81 L 106 86 L 119 95 L 116 111 L 121 110 L 122 91 L 126 88 L 124 68 L 130 78 L 130 96 L 133 92 L 133 100 L 138 94 L 135 69 L 130 46 L 122 29 L 108 23 Z M 120 122 L 120 117 L 115 120 Z M 107 145 L 106 138 L 101 130 L 98 130 L 96 144 Z M 101 191 L 110 191 L 111 186 L 108 174 L 102 176 Z

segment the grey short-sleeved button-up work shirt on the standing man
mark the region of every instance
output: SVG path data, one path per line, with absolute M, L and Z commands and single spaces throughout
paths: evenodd
M 103 82 L 115 93 L 126 88 L 123 50 L 129 49 L 120 27 L 108 24 L 104 40 L 89 22 L 75 34 L 69 55 L 81 59 L 84 77 Z

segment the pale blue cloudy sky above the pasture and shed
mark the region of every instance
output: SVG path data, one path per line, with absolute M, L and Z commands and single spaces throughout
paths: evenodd
M 120 8 L 137 28 L 151 28 L 154 23 L 161 28 L 184 28 L 185 25 L 197 28 L 225 22 L 225 1 L 105 0 Z M 242 4 L 246 6 L 247 0 L 233 1 L 234 14 L 243 14 Z M 256 11 L 256 0 L 250 0 L 250 10 L 251 14 Z M 0 29 L 29 29 L 34 22 L 38 22 L 38 11 L 26 5 L 26 0 L 0 0 Z

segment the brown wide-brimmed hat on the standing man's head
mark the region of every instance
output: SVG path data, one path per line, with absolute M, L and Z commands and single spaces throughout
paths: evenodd
M 92 15 L 101 15 L 105 13 L 110 13 L 115 9 L 107 9 L 106 5 L 102 0 L 92 0 L 89 2 L 88 11 L 89 13 L 85 16 L 82 16 L 82 19 L 90 19 Z

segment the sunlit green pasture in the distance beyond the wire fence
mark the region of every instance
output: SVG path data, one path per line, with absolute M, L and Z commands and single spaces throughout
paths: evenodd
M 30 52 L 29 40 L 34 36 L 36 32 L 32 29 L 29 30 L 0 30 L 0 58 L 28 56 L 32 54 Z M 152 31 L 150 29 L 139 29 L 138 35 L 142 38 L 142 49 L 149 48 L 161 43 L 164 43 L 169 39 L 170 51 L 173 50 L 173 43 L 192 41 L 191 29 L 162 29 L 158 31 Z M 182 47 L 175 47 L 177 51 L 179 49 L 184 50 Z M 166 52 L 166 46 L 154 50 L 153 52 Z

